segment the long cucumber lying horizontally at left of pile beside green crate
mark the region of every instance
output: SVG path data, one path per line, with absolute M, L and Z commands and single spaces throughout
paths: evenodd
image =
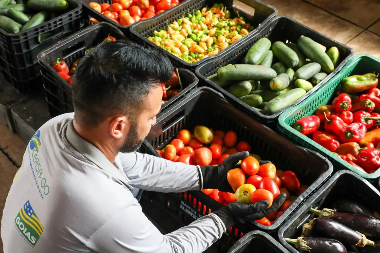
M 219 80 L 270 80 L 277 76 L 276 71 L 260 65 L 235 64 L 218 69 Z

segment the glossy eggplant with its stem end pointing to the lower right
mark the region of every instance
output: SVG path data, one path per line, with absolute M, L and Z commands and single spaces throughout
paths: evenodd
M 347 226 L 329 218 L 320 217 L 304 224 L 302 227 L 302 236 L 309 236 L 310 232 L 314 236 L 335 239 L 343 244 L 350 244 L 358 247 L 374 245 L 374 242 L 368 240 L 364 234 L 359 234 Z

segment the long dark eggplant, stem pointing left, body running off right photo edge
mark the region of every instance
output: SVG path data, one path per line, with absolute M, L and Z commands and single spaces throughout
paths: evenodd
M 336 210 L 327 208 L 322 211 L 310 209 L 310 212 L 319 217 L 326 217 L 338 221 L 348 228 L 361 232 L 370 239 L 380 240 L 380 220 L 377 218 L 355 213 L 336 212 Z

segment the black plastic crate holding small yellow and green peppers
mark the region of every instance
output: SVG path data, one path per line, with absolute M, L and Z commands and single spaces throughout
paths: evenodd
M 249 38 L 252 37 L 252 35 L 258 32 L 258 30 L 261 30 L 261 27 L 265 25 L 267 22 L 269 22 L 278 13 L 277 9 L 275 9 L 273 6 L 267 5 L 266 3 L 263 3 L 260 0 L 241 0 L 240 2 L 255 9 L 255 14 L 253 15 L 253 17 L 252 15 L 245 12 L 244 9 L 237 8 L 233 0 L 191 0 L 185 1 L 180 5 L 174 6 L 173 8 L 169 9 L 168 11 L 165 11 L 164 13 L 158 16 L 138 22 L 136 24 L 132 24 L 130 26 L 130 34 L 133 39 L 141 43 L 148 43 L 151 46 L 157 47 L 157 45 L 147 40 L 149 36 L 152 36 L 154 34 L 154 30 L 165 30 L 169 24 L 171 24 L 174 21 L 177 21 L 180 17 L 188 14 L 189 12 L 193 13 L 194 11 L 202 9 L 206 6 L 210 7 L 214 5 L 214 3 L 223 3 L 225 6 L 227 6 L 228 9 L 230 9 L 231 13 L 239 12 L 240 16 L 245 17 L 247 23 L 255 27 L 255 30 L 250 32 L 249 35 L 240 39 L 236 43 L 231 44 L 229 47 L 223 50 L 223 52 L 231 52 L 234 49 L 243 46 L 245 44 L 245 41 L 249 40 Z M 163 50 L 165 54 L 167 54 L 172 59 L 173 63 L 175 63 L 177 66 L 181 66 L 182 68 L 187 68 L 190 70 L 195 70 L 195 68 L 199 66 L 201 63 L 210 59 L 215 59 L 215 57 L 219 58 L 218 56 L 220 55 L 220 53 L 212 55 L 210 57 L 200 60 L 197 63 L 190 64 L 184 62 L 182 59 L 174 56 L 173 54 L 170 54 L 165 49 L 160 49 Z

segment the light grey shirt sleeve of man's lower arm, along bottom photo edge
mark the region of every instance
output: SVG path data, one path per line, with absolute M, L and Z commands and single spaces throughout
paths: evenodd
M 135 201 L 106 221 L 86 246 L 99 253 L 201 253 L 225 231 L 220 218 L 209 214 L 163 235 Z

